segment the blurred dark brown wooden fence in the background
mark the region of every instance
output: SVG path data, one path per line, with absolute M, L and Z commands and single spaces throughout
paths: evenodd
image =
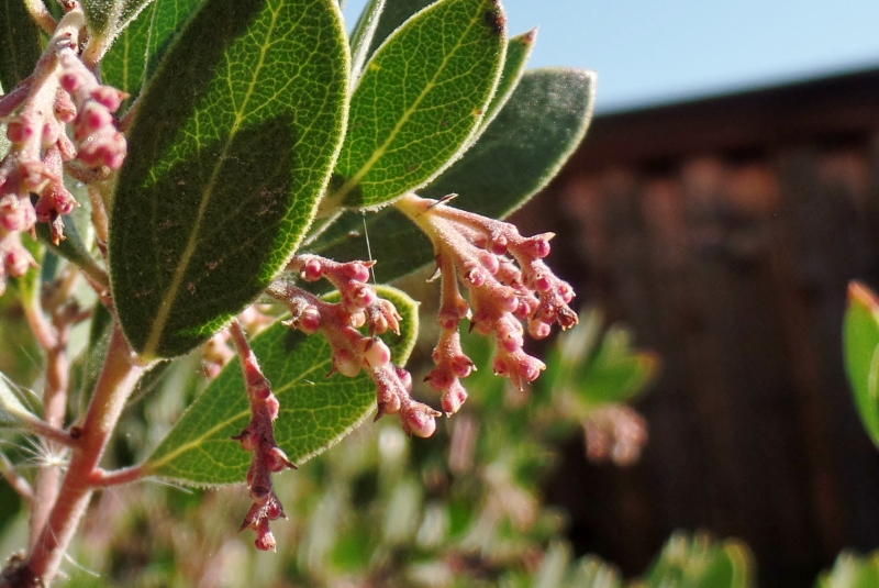
M 847 281 L 879 286 L 879 70 L 598 118 L 519 219 L 665 363 L 642 463 L 570 447 L 547 489 L 580 551 L 635 573 L 706 529 L 752 546 L 763 586 L 810 586 L 879 547 L 841 356 Z

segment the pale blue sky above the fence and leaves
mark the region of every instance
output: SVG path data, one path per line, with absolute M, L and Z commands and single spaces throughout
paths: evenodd
M 348 0 L 346 12 L 365 0 Z M 599 112 L 879 67 L 879 0 L 504 0 L 532 67 L 599 73 Z

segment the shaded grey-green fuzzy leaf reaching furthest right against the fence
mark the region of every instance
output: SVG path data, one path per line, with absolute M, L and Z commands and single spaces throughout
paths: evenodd
M 594 75 L 576 69 L 526 71 L 479 141 L 422 196 L 458 193 L 452 206 L 504 218 L 543 189 L 586 133 L 594 103 Z M 308 249 L 334 259 L 366 257 L 366 233 L 378 259 L 377 279 L 390 281 L 433 260 L 433 246 L 393 207 L 344 212 Z

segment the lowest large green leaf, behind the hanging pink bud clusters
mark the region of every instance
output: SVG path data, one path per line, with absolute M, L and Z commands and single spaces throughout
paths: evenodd
M 392 288 L 378 293 L 403 317 L 401 334 L 385 339 L 396 364 L 405 363 L 418 335 L 418 302 Z M 335 444 L 372 413 L 376 386 L 365 374 L 346 378 L 332 369 L 326 341 L 275 323 L 251 342 L 280 402 L 275 439 L 294 463 Z M 233 360 L 211 382 L 146 461 L 147 475 L 196 485 L 244 480 L 251 454 L 230 440 L 244 429 L 251 409 L 241 366 Z

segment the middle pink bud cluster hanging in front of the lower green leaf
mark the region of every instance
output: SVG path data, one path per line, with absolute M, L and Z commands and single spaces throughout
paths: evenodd
M 371 262 L 338 263 L 316 255 L 299 255 L 288 266 L 305 281 L 326 279 L 341 300 L 329 302 L 289 282 L 272 284 L 267 292 L 283 301 L 292 314 L 287 324 L 305 334 L 320 332 L 333 350 L 333 370 L 354 377 L 365 370 L 376 382 L 379 419 L 398 414 L 408 433 L 431 436 L 441 413 L 412 399 L 412 376 L 391 363 L 391 353 L 378 335 L 400 332 L 393 304 L 367 284 Z M 366 325 L 369 334 L 359 329 Z

